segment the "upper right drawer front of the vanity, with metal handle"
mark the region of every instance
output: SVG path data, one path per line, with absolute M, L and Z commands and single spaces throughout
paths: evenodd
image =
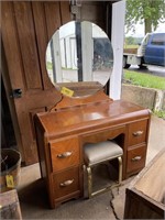
M 146 141 L 147 120 L 133 122 L 129 125 L 129 146 Z

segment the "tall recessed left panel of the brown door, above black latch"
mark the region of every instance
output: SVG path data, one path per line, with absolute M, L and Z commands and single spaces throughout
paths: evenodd
M 13 2 L 26 89 L 42 89 L 31 2 Z

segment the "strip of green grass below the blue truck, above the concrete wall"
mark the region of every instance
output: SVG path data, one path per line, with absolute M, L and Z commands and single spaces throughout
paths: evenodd
M 123 79 L 135 86 L 165 90 L 165 77 L 124 70 Z

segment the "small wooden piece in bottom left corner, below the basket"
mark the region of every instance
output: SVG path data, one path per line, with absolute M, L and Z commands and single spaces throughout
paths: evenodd
M 0 216 L 1 219 L 22 219 L 15 189 L 0 194 Z

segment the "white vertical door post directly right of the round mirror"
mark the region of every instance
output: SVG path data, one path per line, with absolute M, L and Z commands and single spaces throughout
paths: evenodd
M 112 36 L 114 54 L 113 72 L 110 79 L 110 97 L 114 100 L 121 97 L 122 56 L 124 42 L 125 0 L 112 4 Z

